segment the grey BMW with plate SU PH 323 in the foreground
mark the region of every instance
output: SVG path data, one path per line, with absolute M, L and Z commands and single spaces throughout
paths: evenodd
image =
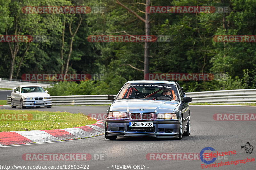
M 106 139 L 148 136 L 190 135 L 190 110 L 183 88 L 177 82 L 161 80 L 128 81 L 107 110 Z

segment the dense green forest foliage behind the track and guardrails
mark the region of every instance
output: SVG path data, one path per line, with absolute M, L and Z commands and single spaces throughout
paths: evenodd
M 146 0 L 119 1 L 145 17 Z M 256 43 L 213 41 L 215 35 L 255 35 L 256 0 L 150 1 L 150 6 L 167 5 L 229 6 L 231 11 L 151 13 L 150 34 L 168 35 L 171 41 L 149 43 L 149 73 L 213 73 L 222 76 L 212 81 L 179 81 L 187 92 L 256 88 Z M 23 6 L 90 6 L 92 12 L 81 15 L 24 14 L 20 11 Z M 22 35 L 47 36 L 47 41 L 31 42 L 29 46 L 26 42 L 10 43 L 10 46 L 1 42 L 2 78 L 10 78 L 10 73 L 18 79 L 24 73 L 105 75 L 103 81 L 97 82 L 59 82 L 52 90 L 48 89 L 54 95 L 116 94 L 126 81 L 144 78 L 141 71 L 144 68 L 144 43 L 87 40 L 89 35 L 145 35 L 145 23 L 116 0 L 0 0 L 0 7 L 1 35 L 5 35 L 6 30 L 8 34 L 14 34 L 18 28 Z M 100 7 L 104 10 L 97 12 Z M 77 33 L 72 36 L 80 21 Z M 15 46 L 19 46 L 19 50 L 13 59 L 10 49 L 14 50 Z

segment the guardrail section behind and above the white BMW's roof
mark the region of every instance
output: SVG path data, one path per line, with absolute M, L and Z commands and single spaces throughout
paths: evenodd
M 11 88 L 17 87 L 19 85 L 40 85 L 41 87 L 45 88 L 45 87 L 50 86 L 51 84 L 0 80 L 0 88 L 10 88 L 11 89 Z

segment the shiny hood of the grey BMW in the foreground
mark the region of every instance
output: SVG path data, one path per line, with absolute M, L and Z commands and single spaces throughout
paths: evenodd
M 122 99 L 114 101 L 110 111 L 173 113 L 178 105 L 179 102 L 168 100 Z

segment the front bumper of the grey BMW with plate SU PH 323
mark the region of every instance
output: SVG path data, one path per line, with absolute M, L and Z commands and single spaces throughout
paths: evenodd
M 153 128 L 129 127 L 129 122 L 153 122 Z M 107 136 L 178 137 L 180 120 L 111 120 L 106 119 Z

